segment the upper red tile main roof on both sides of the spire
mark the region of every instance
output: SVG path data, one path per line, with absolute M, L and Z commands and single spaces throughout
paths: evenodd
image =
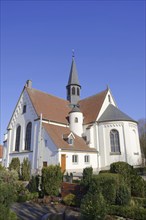
M 36 89 L 26 88 L 26 90 L 38 116 L 42 113 L 43 119 L 68 124 L 67 119 L 71 109 L 67 100 Z M 105 90 L 79 101 L 80 110 L 84 115 L 84 124 L 89 124 L 96 120 L 107 91 Z

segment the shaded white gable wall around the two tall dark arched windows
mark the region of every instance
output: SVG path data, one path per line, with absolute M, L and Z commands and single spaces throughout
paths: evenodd
M 23 106 L 26 105 L 26 113 L 23 114 Z M 35 151 L 35 135 L 34 128 L 35 122 L 34 119 L 37 118 L 37 115 L 34 111 L 34 108 L 31 104 L 29 96 L 24 89 L 22 92 L 20 99 L 16 105 L 14 113 L 12 115 L 11 121 L 9 123 L 8 131 L 7 131 L 7 145 L 6 145 L 6 153 L 4 158 L 4 164 L 6 167 L 9 166 L 12 158 L 19 157 L 20 162 L 23 162 L 24 158 L 28 158 L 31 161 L 31 166 L 33 169 L 33 151 Z M 28 122 L 32 122 L 32 135 L 31 135 L 31 150 L 25 151 L 25 131 Z M 15 152 L 15 142 L 16 142 L 16 130 L 18 126 L 21 126 L 21 134 L 20 134 L 20 148 L 19 152 Z

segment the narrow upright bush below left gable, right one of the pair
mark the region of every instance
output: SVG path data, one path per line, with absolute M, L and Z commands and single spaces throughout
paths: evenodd
M 30 161 L 28 160 L 28 158 L 24 158 L 23 163 L 21 164 L 22 180 L 24 181 L 30 180 L 30 169 L 31 169 Z

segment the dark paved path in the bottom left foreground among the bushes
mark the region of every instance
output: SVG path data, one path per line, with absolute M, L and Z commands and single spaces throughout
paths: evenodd
M 14 203 L 12 210 L 17 214 L 20 220 L 41 220 L 46 213 L 64 212 L 65 207 L 62 205 L 39 205 L 36 203 Z

